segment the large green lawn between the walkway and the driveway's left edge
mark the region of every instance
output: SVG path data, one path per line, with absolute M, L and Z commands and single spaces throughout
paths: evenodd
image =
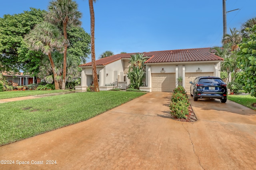
M 101 91 L 0 104 L 0 146 L 90 119 L 144 95 Z

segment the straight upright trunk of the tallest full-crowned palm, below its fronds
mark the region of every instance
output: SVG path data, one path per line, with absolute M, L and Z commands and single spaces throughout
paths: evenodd
M 62 75 L 62 89 L 66 88 L 66 70 L 67 70 L 67 50 L 68 50 L 68 35 L 67 35 L 67 23 L 63 23 L 63 34 L 66 40 L 64 44 L 64 55 L 63 55 L 63 75 Z

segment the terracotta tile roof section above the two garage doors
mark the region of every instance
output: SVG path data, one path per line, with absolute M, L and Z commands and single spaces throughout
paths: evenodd
M 210 53 L 210 48 L 152 51 L 145 53 L 144 56 L 152 56 L 145 63 L 223 60 Z

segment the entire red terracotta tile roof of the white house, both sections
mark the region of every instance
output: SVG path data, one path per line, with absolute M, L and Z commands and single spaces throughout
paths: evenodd
M 104 66 L 114 61 L 130 58 L 136 53 L 117 54 L 103 59 L 96 60 L 97 66 Z M 222 58 L 210 53 L 210 48 L 180 49 L 166 51 L 144 52 L 144 57 L 150 57 L 145 63 L 185 62 L 185 61 L 218 61 Z M 92 62 L 80 66 L 92 66 Z

